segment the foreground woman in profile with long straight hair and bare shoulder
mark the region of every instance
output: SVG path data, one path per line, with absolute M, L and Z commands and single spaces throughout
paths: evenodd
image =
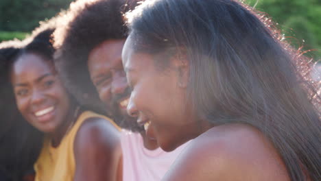
M 318 84 L 270 19 L 233 0 L 145 1 L 126 14 L 128 112 L 166 151 L 164 180 L 320 180 Z

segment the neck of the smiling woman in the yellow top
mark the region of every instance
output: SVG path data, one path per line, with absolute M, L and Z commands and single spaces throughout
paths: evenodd
M 58 126 L 55 132 L 49 135 L 53 147 L 58 147 L 58 145 L 60 145 L 64 135 L 67 134 L 67 132 L 69 132 L 69 130 L 73 127 L 73 124 L 78 118 L 79 112 L 80 111 L 77 105 L 71 106 L 70 111 L 68 111 L 68 114 L 64 121 L 62 121 L 61 125 Z

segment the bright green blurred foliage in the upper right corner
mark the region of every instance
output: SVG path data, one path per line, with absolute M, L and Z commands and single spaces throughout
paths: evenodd
M 278 28 L 296 47 L 313 49 L 308 53 L 321 58 L 321 1 L 320 0 L 245 0 L 261 12 L 267 13 Z

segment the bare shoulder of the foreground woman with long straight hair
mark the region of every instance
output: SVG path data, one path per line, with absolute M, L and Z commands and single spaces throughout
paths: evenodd
M 281 158 L 258 130 L 219 125 L 195 138 L 163 180 L 289 180 Z

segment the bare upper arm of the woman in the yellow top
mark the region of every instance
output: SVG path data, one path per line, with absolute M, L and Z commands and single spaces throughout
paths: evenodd
M 119 131 L 101 118 L 90 118 L 75 137 L 74 181 L 117 180 L 121 164 Z

